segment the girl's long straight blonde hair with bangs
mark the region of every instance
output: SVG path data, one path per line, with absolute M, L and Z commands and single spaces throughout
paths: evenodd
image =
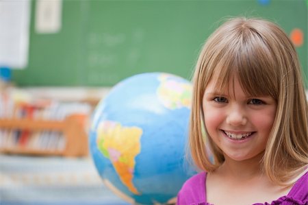
M 277 101 L 262 165 L 272 182 L 292 183 L 307 166 L 308 104 L 290 39 L 270 21 L 246 18 L 230 19 L 207 39 L 194 71 L 190 116 L 190 154 L 204 171 L 224 162 L 222 151 L 203 130 L 203 95 L 214 72 L 218 89 L 237 76 L 247 95 L 269 95 Z

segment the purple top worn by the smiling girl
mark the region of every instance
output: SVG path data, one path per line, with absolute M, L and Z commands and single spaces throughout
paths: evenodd
M 177 205 L 211 205 L 207 203 L 206 176 L 207 173 L 202 172 L 187 180 L 177 195 Z M 287 195 L 272 203 L 253 205 L 308 205 L 308 172 L 297 180 Z

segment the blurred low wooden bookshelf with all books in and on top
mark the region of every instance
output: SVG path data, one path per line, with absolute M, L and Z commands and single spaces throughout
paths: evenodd
M 0 89 L 0 154 L 87 156 L 91 103 Z

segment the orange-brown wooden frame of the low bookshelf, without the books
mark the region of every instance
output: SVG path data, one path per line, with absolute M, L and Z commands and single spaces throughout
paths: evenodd
M 40 149 L 16 143 L 13 146 L 0 147 L 0 153 L 30 154 L 40 156 L 86 156 L 88 155 L 88 137 L 84 125 L 84 116 L 72 114 L 64 121 L 42 121 L 32 119 L 0 119 L 0 130 L 29 130 L 40 132 L 44 130 L 61 132 L 64 136 L 64 149 Z M 31 138 L 29 134 L 29 138 Z

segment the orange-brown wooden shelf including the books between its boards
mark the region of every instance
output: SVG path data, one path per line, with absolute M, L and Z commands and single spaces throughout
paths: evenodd
M 15 132 L 24 132 L 27 130 L 28 136 L 25 136 L 27 143 L 22 143 L 23 134 L 19 133 L 17 139 L 14 136 L 8 136 L 6 141 L 14 141 L 9 145 L 0 147 L 1 153 L 7 154 L 29 154 L 38 156 L 87 156 L 88 138 L 79 114 L 71 114 L 64 121 L 55 120 L 33 120 L 33 119 L 0 119 L 0 129 L 15 130 Z M 21 130 L 21 131 L 16 131 Z M 31 141 L 42 141 L 42 132 L 57 132 L 49 134 L 49 144 L 57 144 L 53 147 L 46 147 L 40 142 L 36 146 L 31 146 Z M 36 139 L 34 139 L 36 138 Z M 25 141 L 25 140 L 24 140 Z M 56 142 L 57 141 L 57 142 Z M 46 141 L 45 141 L 46 142 Z

